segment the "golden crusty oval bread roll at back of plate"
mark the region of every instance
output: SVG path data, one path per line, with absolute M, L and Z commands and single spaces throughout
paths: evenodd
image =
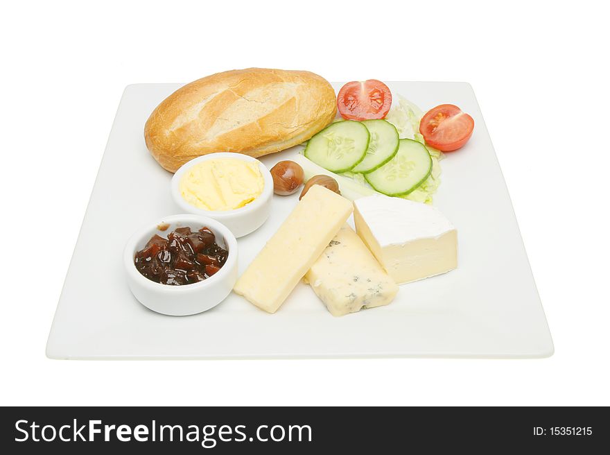
M 336 114 L 333 87 L 308 71 L 238 69 L 180 87 L 150 114 L 144 139 L 165 169 L 214 152 L 259 157 L 301 144 Z

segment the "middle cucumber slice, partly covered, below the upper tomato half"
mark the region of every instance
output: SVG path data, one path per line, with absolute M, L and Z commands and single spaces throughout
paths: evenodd
M 351 172 L 367 173 L 380 168 L 392 160 L 398 151 L 398 131 L 385 120 L 365 120 L 362 122 L 371 133 L 371 141 L 365 159 L 356 164 Z

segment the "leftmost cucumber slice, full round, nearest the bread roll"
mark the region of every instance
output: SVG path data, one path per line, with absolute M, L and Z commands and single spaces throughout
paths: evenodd
M 331 172 L 347 172 L 364 160 L 370 139 L 359 121 L 338 121 L 309 139 L 305 156 Z

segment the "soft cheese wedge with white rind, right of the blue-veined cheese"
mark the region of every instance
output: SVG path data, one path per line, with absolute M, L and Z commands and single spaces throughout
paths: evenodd
M 354 201 L 354 223 L 398 284 L 458 266 L 458 232 L 436 207 L 376 194 Z

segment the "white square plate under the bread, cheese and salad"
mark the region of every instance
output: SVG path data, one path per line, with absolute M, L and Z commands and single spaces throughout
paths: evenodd
M 342 84 L 333 84 L 338 89 Z M 307 357 L 548 357 L 553 345 L 498 160 L 467 83 L 388 83 L 424 111 L 471 114 L 469 143 L 442 161 L 435 205 L 458 229 L 459 266 L 401 286 L 387 307 L 335 318 L 305 284 L 277 314 L 238 295 L 202 314 L 171 317 L 130 293 L 121 261 L 132 232 L 180 213 L 171 174 L 146 150 L 143 126 L 178 84 L 125 89 L 51 327 L 53 359 Z M 271 167 L 298 148 L 263 157 Z M 238 239 L 243 272 L 294 207 L 275 196 L 262 228 Z

